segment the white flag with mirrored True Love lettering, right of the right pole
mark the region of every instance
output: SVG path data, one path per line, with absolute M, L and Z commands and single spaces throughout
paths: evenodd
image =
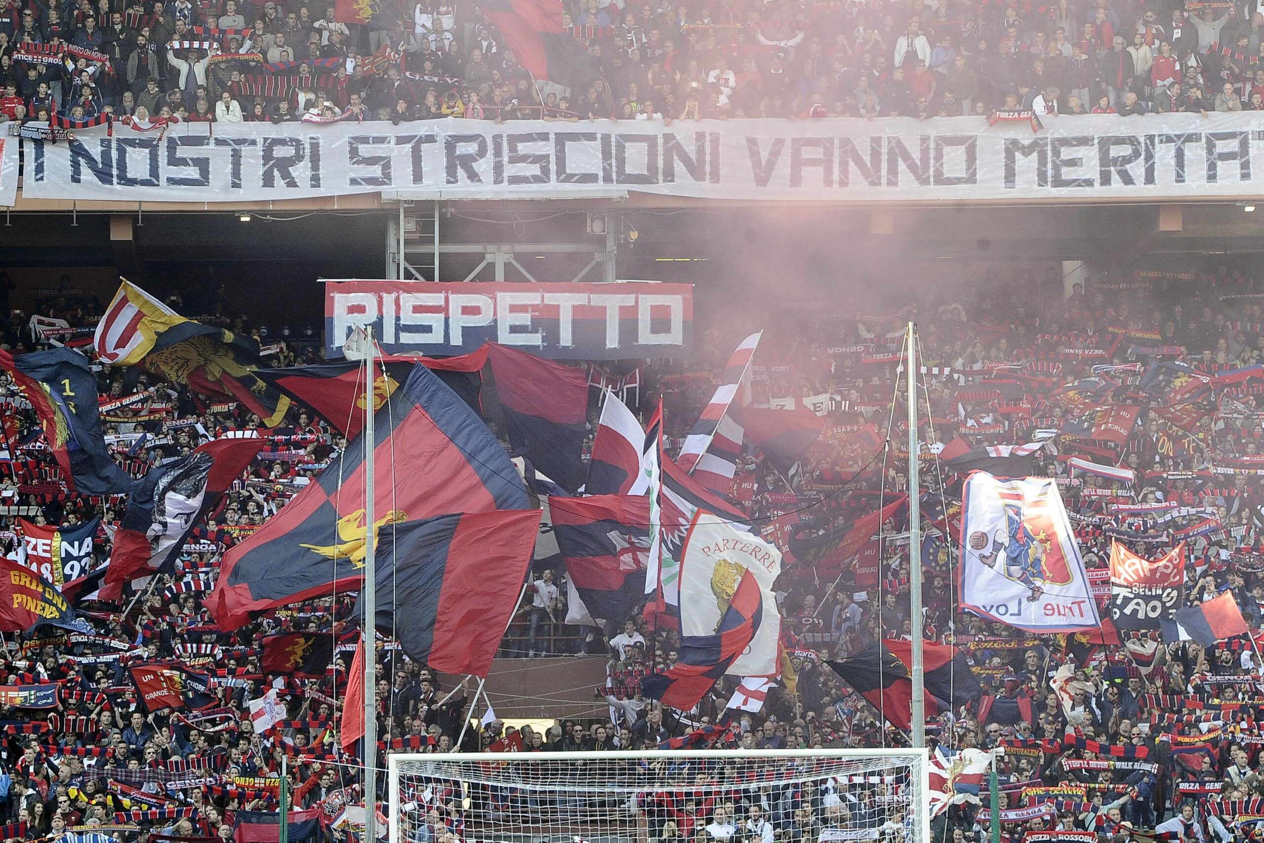
M 1085 562 L 1053 478 L 985 471 L 962 492 L 961 603 L 1030 632 L 1101 626 Z

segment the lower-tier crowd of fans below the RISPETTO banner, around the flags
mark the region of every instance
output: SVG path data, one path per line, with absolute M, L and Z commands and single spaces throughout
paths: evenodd
M 14 286 L 5 279 L 0 288 L 9 293 Z M 1058 478 L 1091 569 L 1106 565 L 1112 536 L 1152 557 L 1184 540 L 1186 600 L 1231 590 L 1251 629 L 1264 628 L 1264 458 L 1255 404 L 1264 391 L 1253 375 L 1213 392 L 1191 393 L 1173 380 L 1141 385 L 1157 360 L 1187 360 L 1208 375 L 1256 365 L 1264 355 L 1264 293 L 1258 282 L 1246 272 L 1213 265 L 1196 272 L 1139 269 L 1091 274 L 1087 287 L 1077 284 L 1064 296 L 1064 279 L 1053 265 L 1035 277 L 966 269 L 927 291 L 915 305 L 876 316 L 843 312 L 825 301 L 762 313 L 770 321 L 752 368 L 752 402 L 819 407 L 827 421 L 824 434 L 794 465 L 748 454 L 732 489 L 765 535 L 786 551 L 777 593 L 794 670 L 784 671 L 780 688 L 767 689 L 762 704 L 726 710 L 733 679 L 719 682 L 693 712 L 646 700 L 640 680 L 671 666 L 674 633 L 647 628 L 640 613 L 605 631 L 564 631 L 565 571 L 538 570 L 502 655 L 607 656 L 609 677 L 594 694 L 609 703 L 609 718 L 560 720 L 542 732 L 509 729 L 502 720 L 466 729 L 466 714 L 478 718 L 482 707 L 471 705 L 465 688 L 442 688 L 425 666 L 383 646 L 382 751 L 447 751 L 458 744 L 468 751 L 621 749 L 678 746 L 681 739 L 746 748 L 906 744 L 906 736 L 825 664 L 909 634 L 904 516 L 892 516 L 871 542 L 873 552 L 867 549 L 854 564 L 830 562 L 828 554 L 818 564 L 796 556 L 817 559 L 815 549 L 837 545 L 857 517 L 877 508 L 877 495 L 906 490 L 906 454 L 897 445 L 906 434 L 899 423 L 889 431 L 887 423 L 906 417 L 894 393 L 901 325 L 909 318 L 919 322 L 927 367 L 930 413 L 920 456 L 929 525 L 951 532 L 958 514 L 962 475 L 939 459 L 940 451 L 962 442 L 1024 444 L 1045 431 L 1039 434 L 1047 444 L 1036 452 L 1036 473 Z M 224 289 L 183 296 L 173 294 L 172 307 L 200 313 L 204 322 L 253 331 L 269 363 L 317 361 L 316 344 L 260 331 L 246 315 L 233 312 Z M 58 288 L 35 291 L 33 301 L 35 313 L 70 326 L 42 334 L 46 341 L 82 346 L 101 315 L 100 301 L 68 278 Z M 40 345 L 25 322 L 29 316 L 15 313 L 3 324 L 14 354 Z M 646 368 L 640 407 L 645 411 L 664 396 L 669 450 L 705 404 L 727 351 L 742 336 L 731 332 L 732 322 L 724 325 L 723 331 L 707 332 L 698 359 Z M 1012 375 L 1004 391 L 994 385 L 1001 375 Z M 1086 383 L 1091 377 L 1097 380 Z M 260 431 L 260 420 L 244 407 L 207 403 L 149 373 L 137 377 L 134 369 L 101 367 L 97 378 L 106 441 L 137 476 L 206 439 Z M 37 526 L 100 518 L 92 565 L 104 565 L 121 499 L 59 493 L 57 469 L 39 445 L 32 412 L 23 409 L 16 388 L 5 385 L 4 432 L 11 450 L 0 498 L 15 508 L 4 511 L 0 537 L 9 555 L 20 557 L 24 547 L 14 516 Z M 1139 407 L 1124 436 L 1093 439 L 1091 426 L 1074 427 L 1111 402 Z M 296 803 L 316 809 L 326 825 L 337 828 L 343 809 L 356 800 L 355 758 L 344 755 L 336 739 L 336 710 L 346 693 L 355 638 L 343 622 L 353 599 L 293 604 L 234 633 L 217 631 L 202 607 L 222 552 L 264 523 L 345 446 L 301 408 L 260 435 L 307 444 L 260 454 L 196 528 L 173 575 L 155 578 L 135 594 L 126 591 L 121 603 L 80 598 L 77 607 L 95 633 L 54 634 L 46 627 L 37 636 L 5 636 L 0 787 L 6 790 L 0 792 L 0 824 L 8 825 L 0 839 L 57 838 L 67 828 L 92 825 L 142 843 L 211 843 L 231 837 L 246 811 L 276 810 L 282 757 L 289 761 Z M 887 436 L 896 445 L 884 455 Z M 1071 456 L 1134 474 L 1130 480 L 1072 476 Z M 1181 504 L 1176 514 L 1116 513 L 1116 507 L 1173 500 Z M 1264 798 L 1258 772 L 1264 666 L 1251 641 L 1236 638 L 1212 648 L 1157 643 L 1152 658 L 1143 660 L 1114 641 L 1029 636 L 958 612 L 953 550 L 937 541 L 934 531 L 927 547 L 927 637 L 962 647 L 985 690 L 977 703 L 933 717 L 930 732 L 948 748 L 1007 748 L 1001 805 L 1011 839 L 1054 827 L 1126 837 L 1130 828 L 1153 829 L 1164 822 L 1160 830 L 1182 840 L 1203 843 L 1216 823 L 1221 832 L 1231 829 L 1226 834 L 1248 835 L 1249 824 L 1235 818 L 1264 805 L 1253 801 Z M 265 670 L 263 637 L 292 631 L 327 633 L 337 643 L 334 666 L 312 679 Z M 215 704 L 148 713 L 126 667 L 166 658 L 209 674 Z M 1073 676 L 1055 686 L 1064 665 Z M 58 682 L 56 708 L 24 708 L 29 700 L 13 688 L 47 682 Z M 260 714 L 249 703 L 272 688 L 287 710 L 270 728 L 255 732 Z M 1192 818 L 1181 819 L 1182 804 L 1191 806 Z M 750 816 L 748 805 L 736 808 Z M 718 830 L 707 825 L 705 839 L 751 838 L 748 832 L 737 834 L 718 813 L 712 818 Z M 434 824 L 411 829 L 418 843 L 463 839 L 458 808 L 439 806 L 434 814 Z M 837 811 L 832 815 L 836 825 L 842 822 Z M 795 825 L 801 819 L 795 810 L 757 815 L 756 837 L 767 843 L 767 825 L 774 839 L 827 839 L 825 813 L 808 816 L 806 832 Z M 986 829 L 977 806 L 968 803 L 952 806 L 942 822 L 954 839 L 957 832 L 975 839 Z M 1122 822 L 1130 825 L 1117 824 Z

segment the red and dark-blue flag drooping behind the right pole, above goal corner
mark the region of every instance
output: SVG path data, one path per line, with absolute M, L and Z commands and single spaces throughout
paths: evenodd
M 983 689 L 971 671 L 964 652 L 924 641 L 921 658 L 928 717 L 982 696 Z M 849 658 L 827 664 L 889 723 L 909 728 L 913 717 L 911 641 L 880 641 Z

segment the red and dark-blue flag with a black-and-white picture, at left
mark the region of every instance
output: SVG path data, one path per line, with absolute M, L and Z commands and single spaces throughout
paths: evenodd
M 171 570 L 190 533 L 262 446 L 262 439 L 217 439 L 150 469 L 128 497 L 105 583 Z

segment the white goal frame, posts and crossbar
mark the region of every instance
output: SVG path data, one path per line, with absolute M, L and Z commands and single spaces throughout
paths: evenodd
M 930 760 L 929 751 L 921 749 L 646 749 L 613 752 L 393 752 L 387 753 L 387 799 L 389 843 L 401 839 L 401 766 L 412 763 L 456 763 L 465 766 L 513 762 L 568 762 L 568 761 L 640 761 L 656 758 L 854 758 L 856 761 L 899 760 L 910 767 L 910 780 L 916 791 L 910 796 L 909 818 L 913 839 L 909 843 L 930 842 Z

